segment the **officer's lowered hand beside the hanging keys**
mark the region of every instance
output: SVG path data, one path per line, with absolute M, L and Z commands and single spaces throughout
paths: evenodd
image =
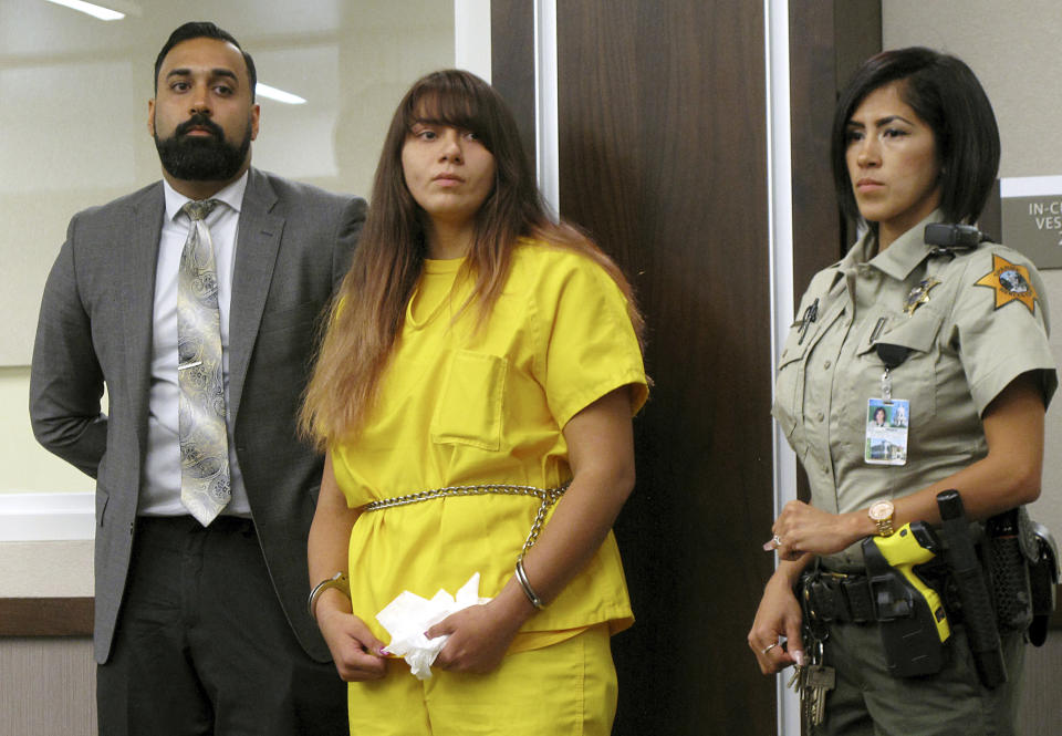
M 811 559 L 808 556 L 808 559 Z M 784 570 L 779 568 L 763 589 L 763 598 L 756 611 L 752 629 L 749 631 L 749 649 L 756 654 L 760 672 L 774 674 L 791 664 L 804 663 L 804 645 L 800 635 L 803 619 L 800 603 L 793 594 L 791 574 L 799 568 Z M 785 646 L 781 637 L 785 637 Z

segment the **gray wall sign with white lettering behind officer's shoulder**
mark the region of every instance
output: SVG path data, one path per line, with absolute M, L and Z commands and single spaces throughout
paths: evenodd
M 1062 268 L 1062 176 L 999 180 L 1003 245 L 1037 268 Z

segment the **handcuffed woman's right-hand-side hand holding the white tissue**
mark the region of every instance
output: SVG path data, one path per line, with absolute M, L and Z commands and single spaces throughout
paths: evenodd
M 522 593 L 521 593 L 522 594 Z M 524 602 L 530 609 L 530 603 Z M 435 665 L 449 672 L 486 674 L 501 664 L 509 644 L 527 619 L 519 612 L 506 612 L 501 595 L 481 605 L 470 605 L 425 632 L 428 639 L 449 634 Z

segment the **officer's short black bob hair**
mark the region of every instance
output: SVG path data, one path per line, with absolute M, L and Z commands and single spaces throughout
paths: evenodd
M 842 214 L 861 219 L 845 159 L 847 125 L 878 87 L 900 81 L 900 99 L 933 131 L 940 163 L 940 209 L 949 222 L 975 222 L 999 170 L 999 127 L 977 76 L 952 55 L 910 46 L 883 51 L 856 70 L 837 100 L 830 157 Z

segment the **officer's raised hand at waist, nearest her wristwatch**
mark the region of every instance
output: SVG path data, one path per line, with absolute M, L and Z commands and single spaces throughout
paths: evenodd
M 774 539 L 764 549 L 777 549 L 783 560 L 795 560 L 804 552 L 833 554 L 870 533 L 863 528 L 867 522 L 865 512 L 830 514 L 790 501 L 771 527 Z

